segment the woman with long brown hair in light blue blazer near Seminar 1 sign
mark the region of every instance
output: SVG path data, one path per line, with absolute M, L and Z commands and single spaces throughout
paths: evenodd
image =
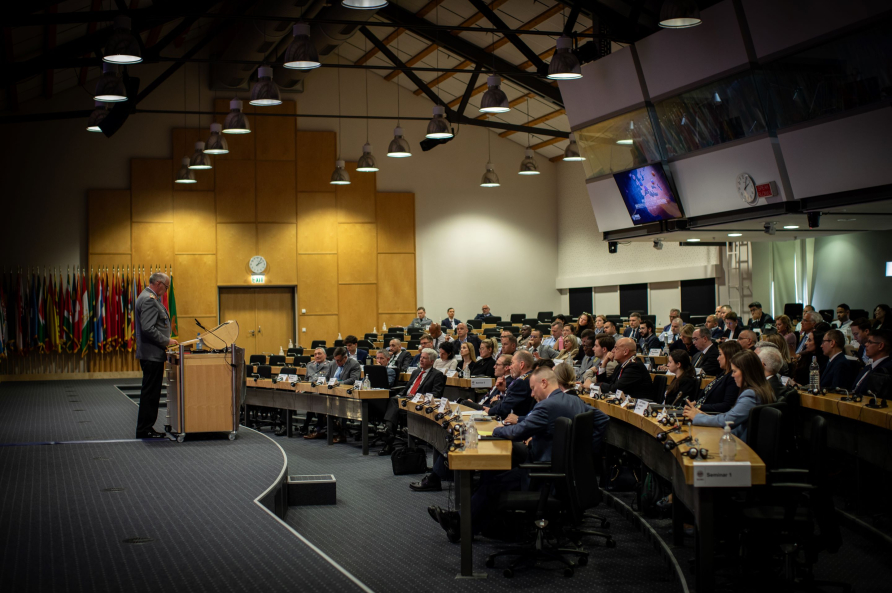
M 721 414 L 704 414 L 695 405 L 688 403 L 684 409 L 685 418 L 694 426 L 716 426 L 724 428 L 725 422 L 733 422 L 731 432 L 746 442 L 747 421 L 750 410 L 756 406 L 770 404 L 775 401 L 774 391 L 765 380 L 765 368 L 755 353 L 744 350 L 731 360 L 731 376 L 740 389 L 737 401 L 727 412 Z

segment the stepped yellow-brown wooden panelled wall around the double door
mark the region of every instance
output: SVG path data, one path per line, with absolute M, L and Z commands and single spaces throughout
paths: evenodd
M 216 101 L 215 111 L 228 108 Z M 207 325 L 217 288 L 250 285 L 248 260 L 262 255 L 267 285 L 297 286 L 304 346 L 406 323 L 416 307 L 414 194 L 379 193 L 356 163 L 347 163 L 351 185 L 331 185 L 334 132 L 254 109 L 245 105 L 252 133 L 227 135 L 229 154 L 195 171 L 198 183 L 173 181 L 208 131 L 175 129 L 170 159 L 131 161 L 129 190 L 90 190 L 90 266 L 172 265 L 179 316 Z M 296 104 L 263 109 L 295 113 Z

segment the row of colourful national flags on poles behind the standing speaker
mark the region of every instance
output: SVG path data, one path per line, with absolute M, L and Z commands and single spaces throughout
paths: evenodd
M 0 358 L 42 354 L 132 352 L 136 298 L 152 271 L 129 267 L 43 273 L 34 268 L 0 274 Z M 177 335 L 173 274 L 161 297 Z

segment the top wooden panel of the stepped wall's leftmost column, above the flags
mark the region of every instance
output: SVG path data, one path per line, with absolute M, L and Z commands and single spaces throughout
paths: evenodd
M 130 192 L 91 189 L 87 192 L 90 253 L 130 253 Z

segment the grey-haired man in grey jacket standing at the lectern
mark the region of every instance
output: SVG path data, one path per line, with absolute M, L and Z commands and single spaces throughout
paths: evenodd
M 154 426 L 158 419 L 166 350 L 168 346 L 177 345 L 177 341 L 170 337 L 170 315 L 161 302 L 169 286 L 170 277 L 155 272 L 136 299 L 136 359 L 142 368 L 139 416 L 136 420 L 138 439 L 165 437 L 163 433 L 155 432 Z

